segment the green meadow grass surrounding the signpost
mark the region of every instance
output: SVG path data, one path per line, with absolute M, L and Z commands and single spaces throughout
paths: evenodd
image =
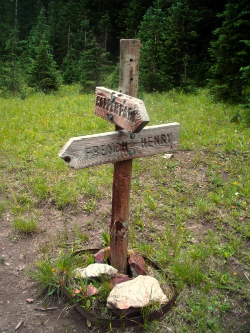
M 240 107 L 215 102 L 206 90 L 138 97 L 149 125 L 180 123 L 174 159 L 133 160 L 129 246 L 157 261 L 180 292 L 174 309 L 160 325 L 150 324 L 148 332 L 245 332 L 250 135 L 243 123 L 231 121 Z M 27 216 L 50 207 L 65 220 L 69 213 L 75 219 L 89 215 L 86 228 L 99 232 L 95 244 L 109 243 L 104 227 L 109 217 L 100 211 L 103 201 L 111 206 L 112 165 L 75 171 L 57 156 L 70 137 L 113 130 L 94 116 L 93 103 L 94 95 L 79 94 L 77 86 L 25 100 L 0 98 L 0 218 L 9 214 L 15 231 L 36 230 L 37 219 Z M 49 256 L 50 249 L 67 253 L 87 240 L 86 230 L 75 225 L 70 235 L 65 225 L 41 255 Z M 56 294 L 62 259 L 54 267 L 51 257 L 44 258 L 38 257 L 33 275 L 47 293 L 55 288 L 51 294 Z M 240 311 L 242 320 L 232 310 Z

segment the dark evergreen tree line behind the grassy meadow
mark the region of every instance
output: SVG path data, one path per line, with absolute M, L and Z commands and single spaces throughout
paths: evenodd
M 112 71 L 115 81 L 119 39 L 139 38 L 141 89 L 208 84 L 239 99 L 250 81 L 249 14 L 247 0 L 1 0 L 0 91 L 94 86 Z

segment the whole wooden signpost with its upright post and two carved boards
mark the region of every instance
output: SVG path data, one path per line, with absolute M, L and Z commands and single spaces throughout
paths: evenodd
M 97 87 L 94 113 L 115 124 L 114 132 L 71 138 L 58 153 L 74 169 L 114 163 L 110 264 L 126 274 L 132 159 L 178 150 L 179 124 L 144 127 L 148 115 L 137 99 L 140 41 L 120 40 L 119 91 Z

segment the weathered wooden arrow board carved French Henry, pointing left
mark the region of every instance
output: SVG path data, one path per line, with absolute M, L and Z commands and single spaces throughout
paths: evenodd
M 71 138 L 58 155 L 74 169 L 178 150 L 179 124 L 144 127 Z

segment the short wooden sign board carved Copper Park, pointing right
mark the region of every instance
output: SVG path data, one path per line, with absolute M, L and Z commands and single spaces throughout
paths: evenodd
M 103 87 L 95 89 L 94 114 L 135 133 L 149 122 L 142 100 Z

